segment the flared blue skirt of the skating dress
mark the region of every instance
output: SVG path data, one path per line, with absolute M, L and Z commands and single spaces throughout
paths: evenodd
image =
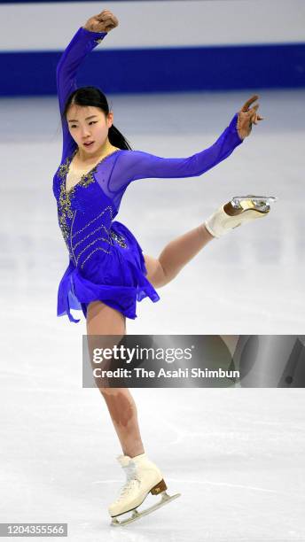
M 58 316 L 66 314 L 77 323 L 80 319 L 74 318 L 71 309 L 82 310 L 86 317 L 89 303 L 99 300 L 134 320 L 137 301 L 146 297 L 154 303 L 160 300 L 145 277 L 145 259 L 136 237 L 119 221 L 113 221 L 111 229 L 119 241 L 121 238 L 121 244 L 114 239 L 109 254 L 97 251 L 83 272 L 70 259 L 59 283 Z

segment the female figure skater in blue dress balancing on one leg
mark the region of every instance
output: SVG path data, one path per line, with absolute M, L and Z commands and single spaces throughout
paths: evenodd
M 266 201 L 256 205 L 243 197 L 223 205 L 204 224 L 171 241 L 158 259 L 143 255 L 137 239 L 126 226 L 113 221 L 129 182 L 144 178 L 199 176 L 223 159 L 249 136 L 252 123 L 262 117 L 251 97 L 232 118 L 215 143 L 188 158 L 160 158 L 131 150 L 113 126 L 106 96 L 96 87 L 77 89 L 75 76 L 83 58 L 118 26 L 112 12 L 104 10 L 88 19 L 68 44 L 57 67 L 63 150 L 53 178 L 59 227 L 69 252 L 69 265 L 58 294 L 58 315 L 78 322 L 71 309 L 82 310 L 87 335 L 126 333 L 126 317 L 135 319 L 137 301 L 153 302 L 155 288 L 169 283 L 208 242 L 231 228 L 269 213 Z M 99 69 L 102 71 L 103 66 Z M 266 198 L 261 198 L 266 199 Z M 137 407 L 126 388 L 99 388 L 106 400 L 121 442 L 117 459 L 126 470 L 127 482 L 118 499 L 109 506 L 116 516 L 135 510 L 149 492 L 166 499 L 166 484 L 160 469 L 145 454 L 137 423 Z M 157 505 L 158 506 L 158 505 Z M 137 511 L 134 512 L 135 517 Z M 130 520 L 129 520 L 130 521 Z

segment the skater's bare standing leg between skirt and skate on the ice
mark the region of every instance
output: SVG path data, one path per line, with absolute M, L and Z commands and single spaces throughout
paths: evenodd
M 93 301 L 88 306 L 87 336 L 89 349 L 92 348 L 90 336 L 118 335 L 118 340 L 126 334 L 126 318 L 101 301 Z M 102 337 L 99 338 L 102 340 Z M 92 360 L 91 360 L 92 364 Z M 93 364 L 92 364 L 93 367 Z M 137 422 L 137 406 L 128 388 L 98 387 L 111 415 L 114 429 L 120 439 L 124 455 L 135 457 L 145 453 Z

